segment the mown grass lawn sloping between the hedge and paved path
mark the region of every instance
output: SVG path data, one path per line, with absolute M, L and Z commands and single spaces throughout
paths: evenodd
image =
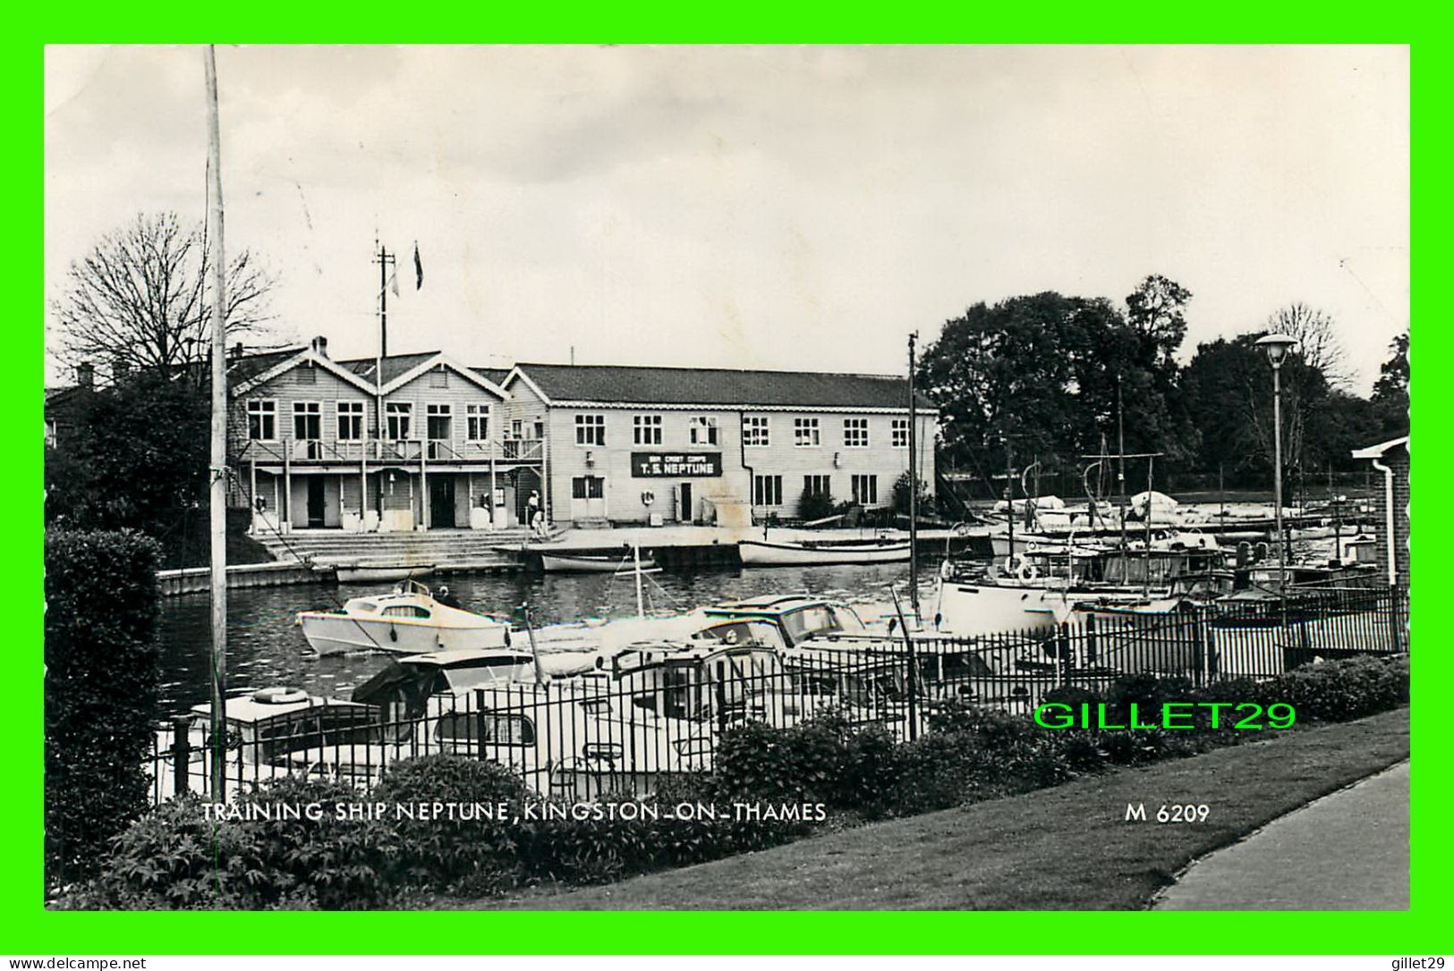
M 1407 754 L 1405 708 L 606 887 L 537 890 L 464 906 L 1137 910 L 1194 858 Z M 1125 821 L 1128 802 L 1144 802 L 1153 821 Z M 1159 824 L 1163 802 L 1204 802 L 1211 814 L 1191 826 Z

